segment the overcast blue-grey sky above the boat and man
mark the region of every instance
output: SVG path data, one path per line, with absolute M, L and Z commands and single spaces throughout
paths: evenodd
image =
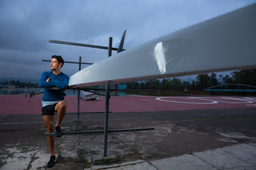
M 129 49 L 161 35 L 186 28 L 255 0 L 0 0 L 0 78 L 40 79 L 50 70 L 52 55 L 65 61 L 98 62 L 107 50 L 60 45 L 63 40 L 118 47 L 127 30 Z M 82 66 L 84 68 L 85 66 Z M 64 64 L 71 76 L 77 64 Z

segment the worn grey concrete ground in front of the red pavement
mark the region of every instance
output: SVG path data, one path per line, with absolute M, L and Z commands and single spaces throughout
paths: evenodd
M 146 101 L 145 101 L 146 102 Z M 166 102 L 168 103 L 168 102 Z M 131 106 L 132 107 L 132 106 Z M 55 138 L 51 169 L 256 169 L 256 112 L 249 108 L 110 113 L 107 154 L 117 162 L 95 165 L 103 134 Z M 63 131 L 76 115 L 66 115 Z M 103 130 L 104 114 L 83 114 L 84 130 Z M 0 169 L 47 169 L 50 158 L 40 114 L 0 115 Z

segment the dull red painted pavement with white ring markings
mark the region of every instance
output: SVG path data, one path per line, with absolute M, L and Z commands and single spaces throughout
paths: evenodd
M 0 115 L 41 114 L 41 98 L 43 94 L 26 98 L 22 95 L 0 96 Z M 157 99 L 158 98 L 158 99 Z M 78 109 L 78 97 L 66 96 L 68 112 Z M 256 108 L 256 97 L 233 96 L 197 96 L 197 97 L 156 97 L 156 96 L 111 96 L 110 111 L 181 111 L 217 108 Z M 105 97 L 99 101 L 80 100 L 80 112 L 105 111 Z M 255 110 L 256 111 L 256 110 Z

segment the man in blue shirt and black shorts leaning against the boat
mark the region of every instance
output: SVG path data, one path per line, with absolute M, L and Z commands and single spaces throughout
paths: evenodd
M 43 89 L 42 100 L 42 114 L 43 122 L 46 125 L 47 132 L 53 132 L 55 130 L 55 136 L 61 137 L 63 134 L 60 130 L 60 123 L 65 116 L 67 104 L 64 101 L 64 89 L 68 86 L 69 77 L 66 74 L 60 72 L 63 67 L 64 60 L 59 55 L 53 55 L 50 62 L 50 72 L 43 72 L 39 81 L 39 86 Z M 51 87 L 58 87 L 60 89 L 50 89 Z M 54 112 L 57 112 L 57 122 L 54 125 Z M 54 153 L 54 137 L 47 137 L 48 147 L 50 149 L 50 161 L 47 166 L 52 167 L 56 162 Z

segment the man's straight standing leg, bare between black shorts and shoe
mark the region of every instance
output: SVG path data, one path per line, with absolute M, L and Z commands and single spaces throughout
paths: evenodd
M 43 115 L 43 122 L 46 125 L 46 131 L 47 132 L 53 132 L 54 127 L 54 116 L 53 115 Z M 50 149 L 50 156 L 55 155 L 54 154 L 54 137 L 53 136 L 47 136 L 47 142 L 48 142 L 48 147 Z

